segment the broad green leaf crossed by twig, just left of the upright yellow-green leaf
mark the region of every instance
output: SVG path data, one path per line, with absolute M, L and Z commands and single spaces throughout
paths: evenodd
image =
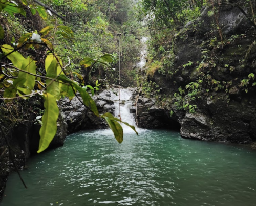
M 19 96 L 22 96 L 24 94 L 29 95 L 32 93 L 32 90 L 35 86 L 35 78 L 36 78 L 35 77 L 35 75 L 36 75 L 35 61 L 30 57 L 25 59 L 22 64 L 22 70 L 29 72 L 31 74 L 22 72 L 22 71 L 19 72 L 18 79 L 25 79 L 25 81 L 22 85 L 21 84 L 17 85 L 17 86 L 20 86 L 20 88 L 18 88 Z M 34 74 L 34 75 L 32 75 L 32 74 Z M 20 91 L 21 91 L 21 93 L 20 93 Z M 25 99 L 27 99 L 27 97 Z

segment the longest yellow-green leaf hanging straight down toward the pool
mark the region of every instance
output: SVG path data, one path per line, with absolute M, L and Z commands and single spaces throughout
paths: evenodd
M 42 116 L 42 127 L 39 131 L 40 142 L 37 153 L 40 153 L 48 148 L 57 132 L 59 108 L 56 99 L 49 93 L 45 93 L 44 98 L 45 113 Z

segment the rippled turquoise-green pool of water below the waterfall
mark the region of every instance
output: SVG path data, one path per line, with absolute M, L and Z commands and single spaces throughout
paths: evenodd
M 118 144 L 109 130 L 70 135 L 62 148 L 10 175 L 1 206 L 225 205 L 256 202 L 256 152 L 141 130 Z

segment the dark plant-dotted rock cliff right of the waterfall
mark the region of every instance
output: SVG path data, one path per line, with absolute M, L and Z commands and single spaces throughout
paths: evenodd
M 216 22 L 210 11 L 211 7 L 204 7 L 198 19 L 188 22 L 175 35 L 173 54 L 160 57 L 173 62 L 166 70 L 172 75 L 156 72 L 150 80 L 161 91 L 151 91 L 150 97 L 155 99 L 157 95 L 168 100 L 153 101 L 142 95 L 137 104 L 139 125 L 180 129 L 181 136 L 189 139 L 255 142 L 256 86 L 252 86 L 254 77 L 248 77 L 251 73 L 256 75 L 255 29 L 238 8 L 222 6 L 219 24 L 225 42 L 219 47 L 218 31 L 214 34 L 218 40 L 211 36 Z M 185 65 L 189 61 L 192 64 Z M 199 89 L 185 88 L 200 79 Z M 195 112 L 189 111 L 186 104 L 195 105 Z

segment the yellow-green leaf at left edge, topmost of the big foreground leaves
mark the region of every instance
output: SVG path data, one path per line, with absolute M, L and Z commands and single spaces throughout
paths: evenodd
M 21 54 L 19 54 L 17 51 L 13 52 L 14 50 L 13 47 L 11 47 L 10 45 L 4 44 L 1 46 L 1 49 L 5 55 L 9 54 L 7 58 L 11 60 L 14 66 L 16 66 L 17 68 L 22 67 L 22 63 L 25 60 L 25 58 Z

